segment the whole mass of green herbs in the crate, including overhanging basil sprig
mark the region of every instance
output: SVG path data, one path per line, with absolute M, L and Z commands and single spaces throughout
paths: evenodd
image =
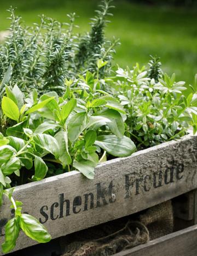
M 118 41 L 104 36 L 111 8 L 102 1 L 84 36 L 73 33 L 75 14 L 67 30 L 44 16 L 27 28 L 9 10 L 10 35 L 0 45 L 0 205 L 7 196 L 15 216 L 5 226 L 5 253 L 20 230 L 38 242 L 51 239 L 22 213 L 15 186 L 72 170 L 94 179 L 103 160 L 197 131 L 197 76 L 187 97 L 185 83 L 164 74 L 157 57 L 148 69 L 136 64 L 114 76 Z

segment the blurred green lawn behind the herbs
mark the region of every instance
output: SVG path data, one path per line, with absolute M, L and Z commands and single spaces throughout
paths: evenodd
M 9 27 L 6 9 L 17 7 L 27 25 L 39 22 L 38 15 L 45 14 L 59 21 L 68 21 L 66 14 L 76 12 L 80 26 L 76 32 L 89 30 L 98 0 L 0 0 L 0 30 Z M 163 69 L 175 72 L 179 80 L 193 83 L 197 73 L 197 8 L 196 5 L 154 5 L 143 1 L 114 1 L 112 23 L 106 36 L 120 38 L 115 62 L 120 66 L 133 66 L 136 62 L 147 64 L 149 54 L 161 57 Z M 144 1 L 146 2 L 146 1 Z M 155 2 L 155 1 L 152 1 Z M 157 2 L 157 1 L 156 1 Z M 170 1 L 166 1 L 166 3 Z

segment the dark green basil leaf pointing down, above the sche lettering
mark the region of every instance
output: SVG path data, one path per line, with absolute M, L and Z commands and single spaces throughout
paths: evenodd
M 35 174 L 32 176 L 32 180 L 37 181 L 37 180 L 42 180 L 46 176 L 48 172 L 48 167 L 44 163 L 43 159 L 40 157 L 37 157 L 35 155 L 34 159 L 34 169 L 35 169 Z

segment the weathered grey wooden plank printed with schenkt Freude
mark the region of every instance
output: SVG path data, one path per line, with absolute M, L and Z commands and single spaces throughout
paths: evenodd
M 188 135 L 102 163 L 94 180 L 72 171 L 19 186 L 13 196 L 24 203 L 24 212 L 36 216 L 56 238 L 194 190 L 196 173 L 197 137 Z M 11 215 L 5 198 L 0 209 L 0 244 Z M 33 244 L 21 232 L 15 250 Z

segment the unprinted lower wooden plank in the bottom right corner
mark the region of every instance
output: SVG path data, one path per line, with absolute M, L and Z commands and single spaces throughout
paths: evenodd
M 160 237 L 114 256 L 196 256 L 197 225 Z

